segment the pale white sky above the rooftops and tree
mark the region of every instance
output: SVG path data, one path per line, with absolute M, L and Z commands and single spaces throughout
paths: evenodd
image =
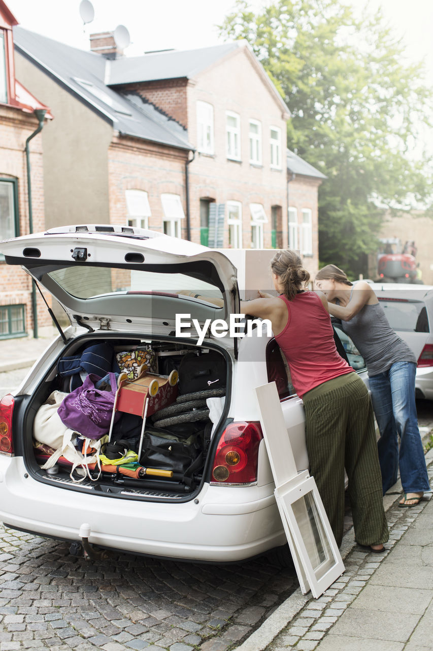
M 131 44 L 129 57 L 155 49 L 193 49 L 216 45 L 216 25 L 230 12 L 234 0 L 92 0 L 94 20 L 83 25 L 80 0 L 5 0 L 22 27 L 68 45 L 88 49 L 91 33 L 125 25 Z M 367 0 L 346 0 L 360 11 Z M 250 0 L 253 8 L 268 4 Z M 433 0 L 369 0 L 379 6 L 405 43 L 409 61 L 425 58 L 427 81 L 433 85 Z

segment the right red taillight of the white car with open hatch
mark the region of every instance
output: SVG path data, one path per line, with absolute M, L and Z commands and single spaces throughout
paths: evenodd
M 257 481 L 259 422 L 231 422 L 220 440 L 213 462 L 211 484 L 251 484 Z

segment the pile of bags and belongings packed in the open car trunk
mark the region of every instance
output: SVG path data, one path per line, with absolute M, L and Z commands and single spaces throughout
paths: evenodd
M 117 348 L 92 344 L 59 360 L 60 386 L 33 424 L 41 471 L 77 483 L 192 490 L 222 413 L 224 357 L 171 344 Z

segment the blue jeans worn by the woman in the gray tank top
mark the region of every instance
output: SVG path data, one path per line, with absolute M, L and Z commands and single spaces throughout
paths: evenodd
M 378 454 L 384 495 L 397 481 L 399 466 L 404 493 L 430 490 L 418 429 L 415 372 L 414 362 L 396 362 L 386 372 L 369 378 L 380 432 Z

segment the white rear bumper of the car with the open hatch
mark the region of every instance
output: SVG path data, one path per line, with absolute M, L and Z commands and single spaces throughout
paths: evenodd
M 27 475 L 27 477 L 26 477 Z M 194 561 L 241 561 L 285 544 L 273 484 L 205 484 L 183 503 L 116 499 L 65 490 L 30 477 L 21 457 L 0 456 L 0 520 L 42 536 Z

